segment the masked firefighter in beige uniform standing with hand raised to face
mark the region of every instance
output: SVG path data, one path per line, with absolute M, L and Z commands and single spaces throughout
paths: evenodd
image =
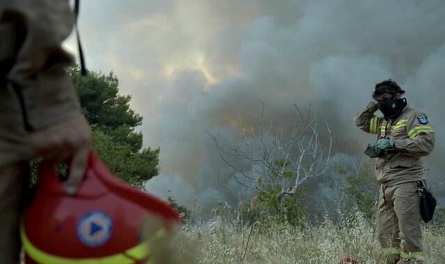
M 432 151 L 435 135 L 426 115 L 401 98 L 404 93 L 396 82 L 382 81 L 375 85 L 376 103 L 371 101 L 354 118 L 359 129 L 377 134 L 377 142 L 369 148 L 379 154 L 367 154 L 377 158 L 376 177 L 382 187 L 376 218 L 385 263 L 423 260 L 416 181 L 425 181 L 421 157 Z M 384 117 L 375 115 L 378 109 Z

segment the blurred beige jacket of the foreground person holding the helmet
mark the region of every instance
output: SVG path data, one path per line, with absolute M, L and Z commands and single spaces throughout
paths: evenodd
M 0 165 L 29 158 L 20 101 L 33 131 L 79 115 L 61 47 L 73 21 L 67 0 L 0 1 Z

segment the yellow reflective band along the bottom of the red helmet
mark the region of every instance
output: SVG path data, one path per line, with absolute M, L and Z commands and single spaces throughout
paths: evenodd
M 125 256 L 124 254 L 114 254 L 111 256 L 104 256 L 100 258 L 63 258 L 60 256 L 54 256 L 48 254 L 37 247 L 35 247 L 31 241 L 26 237 L 23 223 L 20 225 L 20 238 L 26 251 L 26 254 L 38 263 L 42 264 L 133 264 L 134 259 Z M 145 249 L 145 251 L 144 251 Z M 143 243 L 128 249 L 125 253 L 130 252 L 133 258 L 138 256 L 138 260 L 142 260 L 148 254 L 147 243 Z

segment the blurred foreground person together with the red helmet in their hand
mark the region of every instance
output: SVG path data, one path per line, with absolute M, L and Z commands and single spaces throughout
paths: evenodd
M 155 256 L 151 243 L 180 222 L 174 209 L 115 179 L 89 152 L 88 124 L 65 72 L 72 57 L 61 48 L 73 22 L 67 0 L 0 2 L 2 264 L 19 263 L 20 236 L 26 263 L 144 263 Z M 44 160 L 24 209 L 35 156 Z M 70 170 L 63 181 L 57 162 Z

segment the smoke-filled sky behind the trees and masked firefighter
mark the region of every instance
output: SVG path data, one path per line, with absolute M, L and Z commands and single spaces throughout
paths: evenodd
M 332 155 L 365 160 L 375 138 L 353 117 L 384 79 L 428 115 L 437 141 L 428 177 L 445 190 L 443 14 L 441 0 L 95 0 L 81 1 L 79 31 L 88 69 L 118 76 L 143 116 L 145 147 L 161 148 L 147 190 L 211 208 L 239 193 L 209 133 L 236 147 L 261 102 L 284 127 L 293 104 L 312 105 L 330 126 Z M 65 46 L 76 54 L 73 35 Z

